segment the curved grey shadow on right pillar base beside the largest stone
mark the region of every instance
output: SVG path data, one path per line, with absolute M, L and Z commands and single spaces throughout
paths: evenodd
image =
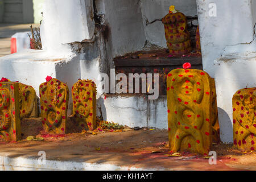
M 229 118 L 225 110 L 218 107 L 218 117 L 225 118 L 220 122 L 220 137 L 225 138 L 226 141 L 233 141 L 233 125 L 232 119 Z M 225 132 L 224 132 L 225 131 Z M 223 141 L 222 141 L 223 142 Z M 225 141 L 224 141 L 225 143 Z

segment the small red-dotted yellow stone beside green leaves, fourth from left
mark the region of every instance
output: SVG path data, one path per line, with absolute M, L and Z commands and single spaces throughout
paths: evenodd
M 96 129 L 96 94 L 96 84 L 90 80 L 79 80 L 72 87 L 73 114 L 81 129 Z

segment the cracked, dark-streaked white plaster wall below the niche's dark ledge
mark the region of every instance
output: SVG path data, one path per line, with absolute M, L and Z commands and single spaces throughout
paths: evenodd
M 98 100 L 104 120 L 129 127 L 167 129 L 167 99 L 147 100 L 145 96 L 108 96 Z

